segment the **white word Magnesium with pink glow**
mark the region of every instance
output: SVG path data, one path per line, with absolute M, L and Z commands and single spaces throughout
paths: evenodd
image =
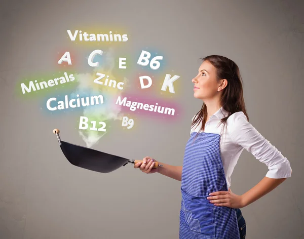
M 156 103 L 156 105 L 149 105 L 149 104 L 143 104 L 143 103 L 139 103 L 139 102 L 135 102 L 135 101 L 131 102 L 130 100 L 127 101 L 127 97 L 125 97 L 123 100 L 121 100 L 121 97 L 119 96 L 117 98 L 116 104 L 130 107 L 131 111 L 135 111 L 136 109 L 144 109 L 144 110 L 154 111 L 154 112 L 158 112 L 158 113 L 162 113 L 162 114 L 164 113 L 164 114 L 174 115 L 174 113 L 175 113 L 175 109 L 164 107 L 164 106 L 161 107 L 158 105 L 158 103 Z

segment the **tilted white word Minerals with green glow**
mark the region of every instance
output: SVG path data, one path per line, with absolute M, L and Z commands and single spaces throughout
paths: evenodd
M 34 81 L 35 84 L 34 84 L 33 81 L 30 81 L 29 84 L 28 84 L 28 87 L 24 83 L 21 83 L 21 89 L 22 89 L 22 93 L 25 94 L 25 91 L 27 91 L 27 93 L 29 93 L 31 91 L 37 91 L 37 90 L 52 87 L 52 86 L 55 86 L 55 85 L 57 86 L 57 85 L 59 85 L 59 83 L 64 84 L 64 83 L 67 83 L 67 82 L 72 82 L 72 81 L 74 81 L 74 79 L 75 79 L 75 77 L 73 76 L 73 74 L 67 75 L 67 73 L 64 72 L 64 77 L 61 76 L 61 77 L 58 77 L 58 78 L 49 79 L 47 82 L 37 83 L 37 80 L 35 80 Z

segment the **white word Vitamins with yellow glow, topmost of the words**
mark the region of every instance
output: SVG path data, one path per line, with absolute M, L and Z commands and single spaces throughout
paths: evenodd
M 70 37 L 71 41 L 74 42 L 77 35 L 79 36 L 79 41 L 85 42 L 127 42 L 128 36 L 127 34 L 114 34 L 112 35 L 112 31 L 109 32 L 110 34 L 94 34 L 87 32 L 82 33 L 82 31 L 75 30 L 74 34 L 70 30 L 67 30 L 67 34 Z M 84 39 L 83 39 L 84 38 Z

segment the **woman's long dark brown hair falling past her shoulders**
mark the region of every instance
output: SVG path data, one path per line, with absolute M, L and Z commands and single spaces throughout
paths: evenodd
M 210 62 L 216 68 L 216 78 L 218 81 L 226 79 L 228 82 L 227 86 L 222 90 L 220 99 L 220 105 L 228 112 L 228 115 L 221 119 L 220 124 L 225 125 L 227 118 L 238 111 L 243 111 L 247 117 L 247 121 L 249 121 L 243 98 L 243 80 L 238 65 L 229 58 L 218 55 L 210 55 L 200 59 Z M 191 127 L 202 123 L 201 130 L 205 131 L 205 115 L 207 116 L 207 106 L 203 103 L 201 110 L 195 115 Z

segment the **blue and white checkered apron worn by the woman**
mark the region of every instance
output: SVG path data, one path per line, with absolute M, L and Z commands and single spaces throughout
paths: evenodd
M 186 144 L 181 177 L 180 239 L 240 239 L 236 210 L 214 206 L 207 200 L 210 192 L 228 190 L 220 157 L 220 137 L 221 134 L 192 132 Z

